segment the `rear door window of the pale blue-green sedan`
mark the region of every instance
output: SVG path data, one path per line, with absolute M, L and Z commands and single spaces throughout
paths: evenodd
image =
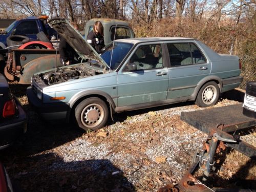
M 167 48 L 171 67 L 206 62 L 206 59 L 199 48 L 191 42 L 167 44 Z

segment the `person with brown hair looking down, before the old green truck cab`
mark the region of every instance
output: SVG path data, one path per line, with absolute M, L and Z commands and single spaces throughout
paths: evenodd
M 93 25 L 93 30 L 87 36 L 87 42 L 98 52 L 100 53 L 101 49 L 105 47 L 104 44 L 104 34 L 103 26 L 101 22 L 97 21 Z

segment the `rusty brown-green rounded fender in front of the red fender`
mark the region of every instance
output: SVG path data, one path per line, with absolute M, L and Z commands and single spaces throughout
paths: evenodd
M 19 78 L 18 83 L 30 84 L 33 74 L 55 67 L 62 67 L 62 63 L 59 62 L 59 54 L 57 54 L 57 56 L 53 54 L 31 60 L 20 70 L 17 76 Z

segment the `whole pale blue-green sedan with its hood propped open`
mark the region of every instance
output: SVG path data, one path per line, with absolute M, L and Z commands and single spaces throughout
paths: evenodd
M 210 106 L 243 79 L 237 56 L 218 54 L 193 38 L 118 39 L 99 56 L 66 19 L 49 23 L 82 59 L 33 75 L 29 103 L 49 121 L 74 120 L 97 130 L 113 113 L 189 100 Z

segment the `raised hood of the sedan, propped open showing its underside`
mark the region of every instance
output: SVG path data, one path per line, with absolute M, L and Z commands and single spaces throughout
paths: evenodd
M 68 44 L 77 52 L 77 54 L 85 61 L 97 60 L 104 69 L 110 69 L 105 61 L 93 49 L 93 47 L 82 37 L 82 35 L 74 29 L 74 27 L 65 18 L 53 18 L 48 22 L 60 36 L 66 39 Z

